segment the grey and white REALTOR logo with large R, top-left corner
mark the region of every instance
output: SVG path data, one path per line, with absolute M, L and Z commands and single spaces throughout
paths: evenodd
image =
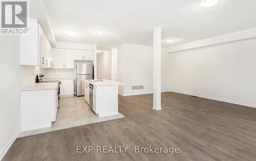
M 1 34 L 28 34 L 28 2 L 1 1 Z

